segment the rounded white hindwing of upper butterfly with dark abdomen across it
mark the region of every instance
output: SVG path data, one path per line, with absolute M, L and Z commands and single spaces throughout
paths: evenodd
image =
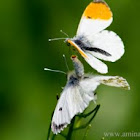
M 121 38 L 113 31 L 101 31 L 88 38 L 91 47 L 85 47 L 85 50 L 96 58 L 115 62 L 124 54 L 124 44 Z

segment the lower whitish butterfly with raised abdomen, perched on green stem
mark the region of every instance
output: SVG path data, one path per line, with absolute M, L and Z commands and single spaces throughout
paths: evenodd
M 67 127 L 72 118 L 82 113 L 91 101 L 96 101 L 97 97 L 94 93 L 100 84 L 130 89 L 124 78 L 85 74 L 83 64 L 78 57 L 73 55 L 71 59 L 74 71 L 67 74 L 66 86 L 60 95 L 52 117 L 51 129 L 54 134 L 60 133 Z

